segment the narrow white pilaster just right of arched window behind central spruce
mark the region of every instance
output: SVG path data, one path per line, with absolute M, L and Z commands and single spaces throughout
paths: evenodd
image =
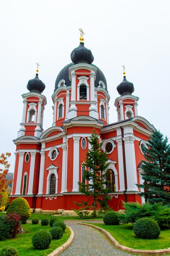
M 119 192 L 124 191 L 124 166 L 123 166 L 123 150 L 122 150 L 122 138 L 116 139 L 118 144 L 118 166 L 119 166 Z

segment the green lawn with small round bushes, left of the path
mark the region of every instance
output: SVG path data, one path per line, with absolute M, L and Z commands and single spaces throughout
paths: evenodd
M 32 245 L 33 234 L 40 229 L 50 230 L 50 226 L 41 226 L 40 223 L 37 225 L 27 223 L 25 225 L 22 225 L 22 228 L 25 231 L 25 234 L 18 234 L 16 238 L 0 241 L 0 248 L 4 246 L 12 246 L 17 249 L 19 256 L 46 256 L 55 249 L 57 249 L 59 246 L 61 246 L 63 243 L 65 243 L 71 234 L 70 229 L 67 228 L 65 229 L 65 232 L 61 239 L 51 241 L 49 249 L 35 250 Z

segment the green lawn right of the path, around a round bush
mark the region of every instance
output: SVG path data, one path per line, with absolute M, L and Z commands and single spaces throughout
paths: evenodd
M 170 229 L 161 230 L 161 234 L 157 239 L 139 239 L 133 232 L 132 224 L 112 226 L 95 223 L 93 225 L 105 229 L 118 243 L 126 247 L 141 250 L 168 249 L 170 247 Z

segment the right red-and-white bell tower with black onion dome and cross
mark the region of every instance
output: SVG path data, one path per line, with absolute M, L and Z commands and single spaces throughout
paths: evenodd
M 125 67 L 123 66 L 125 69 Z M 120 97 L 116 98 L 114 105 L 118 112 L 118 121 L 136 117 L 138 97 L 132 95 L 134 92 L 133 83 L 126 80 L 125 71 L 123 71 L 123 81 L 117 86 Z

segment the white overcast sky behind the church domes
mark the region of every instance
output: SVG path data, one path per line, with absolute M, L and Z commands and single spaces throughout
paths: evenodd
M 170 138 L 170 1 L 169 0 L 0 0 L 0 153 L 11 152 L 22 120 L 21 94 L 40 63 L 46 89 L 44 130 L 52 126 L 52 99 L 59 71 L 79 45 L 105 74 L 111 97 L 109 123 L 117 121 L 116 87 L 133 82 L 138 115 Z

